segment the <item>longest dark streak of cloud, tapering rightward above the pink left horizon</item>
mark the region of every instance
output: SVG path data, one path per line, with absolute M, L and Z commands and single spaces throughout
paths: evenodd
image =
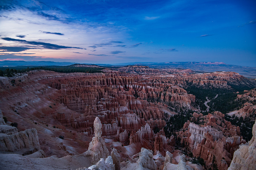
M 66 49 L 66 48 L 85 49 L 85 48 L 79 48 L 79 47 L 61 46 L 61 45 L 45 43 L 45 42 L 19 40 L 19 39 L 14 39 L 14 38 L 9 38 L 9 37 L 1 38 L 1 39 L 5 40 L 5 41 L 13 41 L 13 42 L 20 42 L 20 43 L 25 43 L 25 44 L 30 44 L 30 45 L 36 45 L 36 46 L 40 46 L 40 47 L 43 47 L 46 49 Z

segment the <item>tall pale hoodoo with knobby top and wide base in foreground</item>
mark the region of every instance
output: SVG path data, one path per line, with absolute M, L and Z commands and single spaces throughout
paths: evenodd
M 88 151 L 85 152 L 85 155 L 91 156 L 92 165 L 96 164 L 101 158 L 106 159 L 109 155 L 105 142 L 101 138 L 102 124 L 98 117 L 95 118 L 93 126 L 95 137 L 92 138 L 92 142 L 89 144 Z

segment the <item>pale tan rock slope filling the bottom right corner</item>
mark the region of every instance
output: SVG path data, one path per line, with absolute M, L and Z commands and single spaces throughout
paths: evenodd
M 228 170 L 256 169 L 256 121 L 252 128 L 252 139 L 249 144 L 241 144 L 234 152 Z

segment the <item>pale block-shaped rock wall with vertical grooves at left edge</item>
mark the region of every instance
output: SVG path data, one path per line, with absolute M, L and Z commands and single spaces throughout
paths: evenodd
M 0 137 L 0 153 L 28 155 L 40 150 L 36 129 Z

